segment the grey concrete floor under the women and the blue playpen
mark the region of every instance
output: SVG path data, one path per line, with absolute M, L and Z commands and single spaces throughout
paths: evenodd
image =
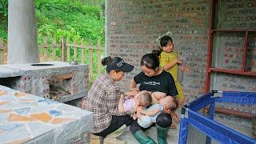
M 181 118 L 181 109 L 177 110 L 177 114 L 180 116 Z M 226 122 L 223 121 L 222 119 L 216 118 L 216 121 L 219 123 L 222 123 L 224 126 L 228 126 L 233 130 L 237 130 L 238 132 L 245 134 L 247 136 L 249 136 L 250 138 L 252 138 L 252 134 L 251 134 L 251 126 L 243 126 L 241 124 L 238 123 L 234 123 L 234 122 Z M 167 135 L 167 142 L 169 144 L 178 144 L 178 133 L 179 133 L 179 123 L 176 125 L 177 129 L 170 129 Z M 146 131 L 146 134 L 148 134 L 151 138 L 154 139 L 155 142 L 157 142 L 157 130 L 156 127 L 152 127 L 150 130 Z M 198 134 L 194 135 L 195 138 L 198 138 Z M 119 139 L 126 141 L 127 144 L 137 144 L 138 142 L 134 139 L 134 136 L 130 133 L 129 127 L 126 128 L 125 132 L 119 136 Z M 200 138 L 198 138 L 200 139 Z M 192 143 L 194 144 L 195 142 L 187 142 L 187 143 Z M 205 143 L 205 142 L 196 142 L 198 143 Z M 212 143 L 218 143 L 216 141 L 213 141 Z

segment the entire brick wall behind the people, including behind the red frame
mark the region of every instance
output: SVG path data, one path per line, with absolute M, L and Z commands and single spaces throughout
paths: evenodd
M 217 4 L 217 28 L 255 29 L 255 1 L 225 1 Z M 155 39 L 166 31 L 174 36 L 174 50 L 188 58 L 187 70 L 182 86 L 190 100 L 204 93 L 206 74 L 208 30 L 210 27 L 210 0 L 109 0 L 106 2 L 106 50 L 111 56 L 125 58 L 135 66 L 121 82 L 126 90 L 130 79 L 140 71 L 139 62 L 143 54 L 158 49 Z M 252 39 L 255 39 L 255 34 Z M 240 34 L 241 36 L 241 34 Z M 241 64 L 242 52 L 239 34 L 220 37 L 222 42 L 214 40 L 214 64 L 216 62 L 229 68 Z M 223 41 L 224 40 L 224 41 Z M 228 41 L 228 42 L 225 42 Z M 238 41 L 239 40 L 239 41 Z M 226 43 L 230 47 L 223 47 Z M 219 42 L 221 44 L 219 44 Z M 255 40 L 254 40 L 255 42 Z M 250 45 L 250 58 L 255 59 L 255 43 Z M 216 46 L 217 44 L 217 46 Z M 223 49 L 221 49 L 223 47 Z M 240 53 L 238 53 L 238 50 Z M 226 54 L 224 54 L 226 52 Z M 238 54 L 232 54 L 237 52 Z M 221 56 L 222 58 L 218 57 Z M 217 61 L 215 60 L 217 59 Z M 226 62 L 230 59 L 230 62 Z M 237 63 L 235 63 L 237 62 Z M 254 69 L 253 60 L 248 59 L 248 66 Z M 247 67 L 248 67 L 247 66 Z M 249 70 L 249 69 L 248 69 Z M 211 89 L 256 91 L 255 77 L 241 77 L 228 74 L 212 76 Z M 230 78 L 231 77 L 231 78 Z M 239 78 L 238 83 L 235 78 Z M 234 82 L 235 81 L 235 82 Z M 242 86 L 238 86 L 242 83 Z M 235 85 L 235 86 L 234 86 Z M 250 88 L 249 88 L 250 87 Z

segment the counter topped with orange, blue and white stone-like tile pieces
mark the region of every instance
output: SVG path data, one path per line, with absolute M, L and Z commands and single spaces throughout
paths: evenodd
M 0 86 L 0 143 L 86 142 L 92 113 Z

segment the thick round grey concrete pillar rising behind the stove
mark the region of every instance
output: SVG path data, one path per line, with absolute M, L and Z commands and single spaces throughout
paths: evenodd
M 8 1 L 7 62 L 39 62 L 34 0 Z

